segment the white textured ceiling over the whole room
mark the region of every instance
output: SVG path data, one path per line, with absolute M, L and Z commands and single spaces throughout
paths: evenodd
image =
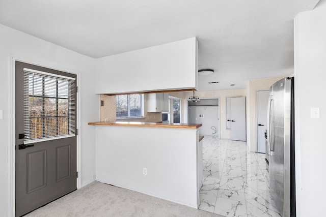
M 215 71 L 198 89 L 235 89 L 293 72 L 293 18 L 318 1 L 0 0 L 0 23 L 94 58 L 195 36 Z

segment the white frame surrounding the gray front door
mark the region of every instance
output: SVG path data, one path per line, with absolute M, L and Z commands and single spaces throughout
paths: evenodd
M 76 85 L 80 88 L 80 73 L 76 72 L 75 70 L 68 69 L 64 66 L 54 65 L 44 61 L 37 61 L 35 59 L 29 59 L 22 56 L 17 56 L 13 54 L 9 54 L 8 57 L 8 144 L 7 144 L 7 162 L 8 162 L 8 216 L 15 215 L 15 183 L 16 183 L 16 152 L 15 152 L 15 129 L 16 129 L 16 115 L 15 115 L 15 106 L 16 106 L 16 61 L 21 61 L 23 63 L 33 64 L 41 67 L 46 67 L 58 71 L 67 72 L 70 74 L 77 75 L 77 83 Z M 78 89 L 79 89 L 78 88 Z M 77 103 L 77 129 L 80 129 L 80 94 L 79 92 L 76 93 L 76 103 Z M 77 189 L 81 186 L 81 175 L 80 175 L 80 134 L 76 135 L 76 142 L 77 142 L 77 172 L 78 177 L 77 181 Z

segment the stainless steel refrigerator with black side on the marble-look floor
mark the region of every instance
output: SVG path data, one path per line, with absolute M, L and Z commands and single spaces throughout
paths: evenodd
M 295 216 L 293 77 L 270 87 L 267 121 L 269 194 L 283 217 Z

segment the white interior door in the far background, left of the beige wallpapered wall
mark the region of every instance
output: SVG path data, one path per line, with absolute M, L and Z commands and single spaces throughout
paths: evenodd
M 231 139 L 246 141 L 246 97 L 231 98 Z

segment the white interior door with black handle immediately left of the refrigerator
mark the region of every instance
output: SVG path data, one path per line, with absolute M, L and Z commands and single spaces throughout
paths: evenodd
M 269 90 L 257 91 L 257 152 L 265 153 L 265 131 L 267 129 L 267 105 Z

